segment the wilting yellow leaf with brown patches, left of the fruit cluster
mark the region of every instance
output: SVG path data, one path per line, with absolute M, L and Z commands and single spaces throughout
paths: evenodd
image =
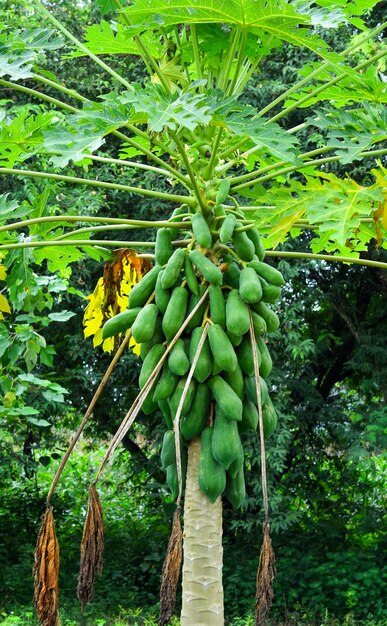
M 93 336 L 94 347 L 102 344 L 105 352 L 118 347 L 119 336 L 109 337 L 102 342 L 104 323 L 128 308 L 130 290 L 150 269 L 148 259 L 139 259 L 133 250 L 122 248 L 114 251 L 113 261 L 105 263 L 103 276 L 98 280 L 94 292 L 87 297 L 90 301 L 83 316 L 84 336 Z M 136 354 L 139 346 L 134 339 L 130 346 Z

